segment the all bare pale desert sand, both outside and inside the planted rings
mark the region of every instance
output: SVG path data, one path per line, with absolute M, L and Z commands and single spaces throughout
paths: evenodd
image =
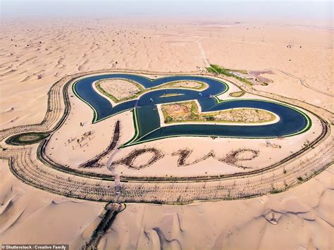
M 271 80 L 268 86 L 254 89 L 304 101 L 323 112 L 333 111 L 333 27 L 222 21 L 2 20 L 0 44 L 1 130 L 40 123 L 47 111 L 47 92 L 62 77 L 103 69 L 168 75 L 203 73 L 214 63 L 235 70 L 270 70 L 261 74 Z M 239 90 L 231 87 L 222 98 L 233 98 L 229 94 Z M 106 149 L 116 120 L 122 122 L 120 143 L 134 135 L 130 111 L 93 125 L 92 109 L 71 89 L 69 94 L 73 112 L 66 125 L 51 136 L 46 149 L 51 160 L 79 169 Z M 249 93 L 242 96 L 252 97 Z M 314 122 L 311 129 L 295 137 L 256 142 L 168 138 L 116 150 L 111 158 L 118 161 L 143 147 L 163 151 L 165 156 L 149 168 L 133 170 L 120 164 L 94 171 L 130 177 L 247 172 L 212 157 L 180 168 L 173 153 L 186 148 L 192 150 L 190 163 L 216 149 L 218 158 L 233 149 L 258 150 L 259 156 L 243 161 L 242 166 L 265 168 L 321 133 L 320 121 L 308 115 Z M 87 132 L 92 134 L 85 137 Z M 80 138 L 79 144 L 76 140 Z M 1 147 L 6 148 L 4 140 Z M 320 154 L 317 147 L 308 157 L 316 154 Z M 149 158 L 136 158 L 134 164 Z M 108 160 L 104 159 L 106 165 Z M 106 202 L 42 191 L 18 180 L 7 160 L 0 163 L 0 244 L 66 243 L 70 249 L 85 245 L 104 215 Z M 99 249 L 333 249 L 333 180 L 330 165 L 311 180 L 279 194 L 187 205 L 126 204 L 101 238 Z

